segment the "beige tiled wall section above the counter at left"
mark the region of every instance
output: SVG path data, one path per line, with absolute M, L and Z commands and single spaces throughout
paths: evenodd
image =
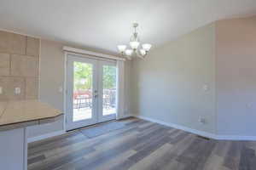
M 38 38 L 0 31 L 0 101 L 38 99 L 39 46 Z

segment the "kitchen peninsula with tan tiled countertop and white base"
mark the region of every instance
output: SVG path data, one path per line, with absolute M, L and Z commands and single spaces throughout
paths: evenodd
M 62 113 L 38 100 L 0 102 L 0 165 L 6 170 L 27 169 L 26 127 L 55 122 Z

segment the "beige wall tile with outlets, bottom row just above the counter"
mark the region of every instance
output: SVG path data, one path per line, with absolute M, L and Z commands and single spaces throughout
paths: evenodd
M 25 78 L 23 77 L 0 77 L 0 87 L 3 94 L 0 100 L 25 99 Z M 20 94 L 15 94 L 15 88 L 20 88 Z

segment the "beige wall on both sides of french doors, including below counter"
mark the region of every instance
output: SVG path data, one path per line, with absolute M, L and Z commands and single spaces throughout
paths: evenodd
M 64 52 L 60 42 L 41 40 L 39 99 L 61 111 L 64 110 L 64 94 L 59 92 L 64 87 Z M 131 61 L 125 61 L 125 115 L 130 115 L 130 71 Z M 37 127 L 28 128 L 28 138 L 62 131 L 63 119 Z

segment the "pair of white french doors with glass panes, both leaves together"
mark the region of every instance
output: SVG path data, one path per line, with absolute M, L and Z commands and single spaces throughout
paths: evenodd
M 116 62 L 67 55 L 66 128 L 116 117 Z

